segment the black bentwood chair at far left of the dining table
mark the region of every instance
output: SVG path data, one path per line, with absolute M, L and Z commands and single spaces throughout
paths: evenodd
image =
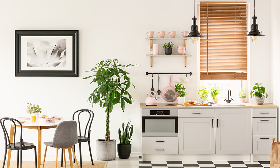
M 5 127 L 5 124 L 4 124 L 5 121 L 11 122 L 11 123 L 8 123 L 8 124 L 9 125 L 14 124 L 14 126 L 15 126 L 14 137 L 13 137 L 14 142 L 13 143 L 10 143 L 9 134 L 8 134 L 7 129 Z M 15 134 L 16 133 L 16 123 L 15 122 L 18 122 L 18 124 L 21 126 L 21 128 L 20 128 L 21 134 L 20 134 L 20 139 L 19 139 L 20 142 L 15 142 L 15 135 L 16 135 Z M 33 149 L 33 148 L 34 148 L 34 151 L 35 151 L 35 168 L 37 168 L 36 146 L 32 143 L 28 143 L 28 142 L 23 141 L 21 123 L 17 119 L 8 118 L 8 117 L 1 118 L 0 123 L 1 123 L 1 127 L 3 129 L 3 132 L 4 132 L 4 138 L 5 138 L 5 154 L 4 154 L 3 168 L 4 168 L 4 165 L 5 165 L 5 160 L 6 160 L 6 155 L 7 155 L 7 150 L 8 149 L 18 151 L 17 168 L 18 168 L 18 158 L 20 158 L 20 168 L 21 168 L 22 150 Z

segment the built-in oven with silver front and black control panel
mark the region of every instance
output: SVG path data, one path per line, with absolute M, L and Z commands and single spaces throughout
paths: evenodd
M 142 109 L 142 136 L 178 137 L 178 109 Z

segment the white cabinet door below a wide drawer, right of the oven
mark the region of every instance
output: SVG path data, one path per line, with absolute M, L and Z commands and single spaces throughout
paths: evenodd
M 215 154 L 214 118 L 178 118 L 179 154 Z

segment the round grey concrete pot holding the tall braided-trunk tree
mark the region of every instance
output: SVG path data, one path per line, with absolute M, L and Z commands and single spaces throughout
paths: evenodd
M 96 140 L 96 158 L 102 161 L 111 161 L 116 159 L 116 140 L 105 141 L 105 139 Z

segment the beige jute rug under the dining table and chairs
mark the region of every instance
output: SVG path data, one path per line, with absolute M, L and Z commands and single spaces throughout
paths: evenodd
M 42 161 L 43 163 L 43 161 Z M 94 161 L 94 165 L 91 164 L 90 161 L 83 161 L 83 168 L 106 168 L 107 167 L 107 161 Z M 78 162 L 80 167 L 80 162 Z M 2 167 L 3 161 L 0 161 L 0 167 Z M 22 161 L 22 168 L 35 168 L 35 161 Z M 57 162 L 57 168 L 60 168 L 61 162 Z M 7 161 L 5 162 L 5 167 L 7 167 Z M 16 161 L 11 161 L 10 168 L 16 168 L 17 164 Z M 18 165 L 19 167 L 19 165 Z M 40 165 L 40 168 L 42 168 L 43 165 Z M 63 167 L 65 168 L 64 162 Z M 73 163 L 73 168 L 77 168 L 76 163 Z M 55 161 L 45 161 L 44 168 L 55 168 Z M 66 161 L 66 168 L 70 168 L 70 162 Z

